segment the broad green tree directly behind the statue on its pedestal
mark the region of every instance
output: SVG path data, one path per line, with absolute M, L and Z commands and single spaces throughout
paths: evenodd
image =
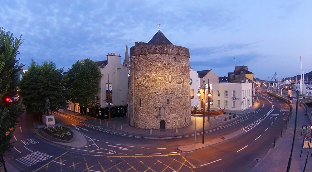
M 45 61 L 42 65 L 38 65 L 32 60 L 19 84 L 27 114 L 38 115 L 41 119 L 46 98 L 50 101 L 50 111 L 66 108 L 67 92 L 63 72 L 64 68 L 57 69 L 52 61 Z

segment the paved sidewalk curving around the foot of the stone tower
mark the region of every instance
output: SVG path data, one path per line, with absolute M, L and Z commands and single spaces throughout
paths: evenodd
M 262 105 L 261 105 L 262 106 Z M 214 127 L 217 125 L 223 125 L 226 123 L 230 123 L 233 120 L 238 120 L 241 118 L 241 116 L 250 113 L 252 111 L 255 111 L 256 109 L 258 109 L 260 107 L 260 103 L 254 103 L 254 105 L 250 108 L 247 109 L 245 111 L 228 111 L 226 110 L 226 114 L 221 114 L 221 115 L 217 115 L 216 117 L 214 117 L 213 115 L 210 116 L 210 120 L 207 121 L 207 115 L 205 116 L 205 130 L 209 129 L 210 127 Z M 58 110 L 61 113 L 64 113 L 66 115 L 70 115 L 72 117 L 75 118 L 79 118 L 81 120 L 85 120 L 88 121 L 90 123 L 93 123 L 93 125 L 96 126 L 101 126 L 103 128 L 109 129 L 111 131 L 115 131 L 115 132 L 121 132 L 127 135 L 140 135 L 143 137 L 173 137 L 173 136 L 182 136 L 182 135 L 193 135 L 195 134 L 195 115 L 191 116 L 191 125 L 188 125 L 186 127 L 183 128 L 179 128 L 179 129 L 167 129 L 165 131 L 160 131 L 160 130 L 152 130 L 152 134 L 150 134 L 151 130 L 148 129 L 139 129 L 139 128 L 134 128 L 130 125 L 127 124 L 126 121 L 126 117 L 121 117 L 121 118 L 112 118 L 111 121 L 109 121 L 108 119 L 105 120 L 99 120 L 93 117 L 88 116 L 88 120 L 86 120 L 86 116 L 85 115 L 80 115 L 78 113 L 75 113 L 73 111 L 69 111 L 69 110 L 64 110 L 64 109 L 60 109 Z M 229 112 L 232 113 L 232 115 L 236 114 L 236 118 L 232 118 L 231 120 L 228 119 L 228 117 L 230 115 Z M 224 119 L 227 119 L 227 121 L 224 121 Z M 114 127 L 115 126 L 115 127 Z M 197 115 L 197 121 L 196 121 L 196 129 L 197 129 L 197 133 L 202 132 L 202 115 Z M 176 133 L 176 131 L 178 131 L 178 133 Z

